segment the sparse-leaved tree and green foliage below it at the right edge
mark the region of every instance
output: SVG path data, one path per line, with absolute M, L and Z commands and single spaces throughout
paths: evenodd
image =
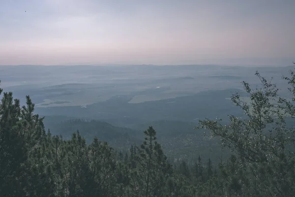
M 284 77 L 291 84 L 290 92 L 295 93 L 294 71 L 291 78 Z M 233 103 L 240 107 L 246 119 L 229 116 L 228 125 L 218 120 L 200 121 L 200 128 L 208 129 L 213 136 L 221 137 L 224 146 L 234 151 L 231 157 L 231 172 L 222 167 L 226 178 L 228 194 L 233 196 L 282 196 L 295 193 L 295 130 L 288 128 L 285 119 L 293 115 L 294 105 L 278 95 L 275 84 L 267 82 L 258 72 L 262 87 L 251 89 L 242 82 L 251 101 L 232 96 Z M 230 174 L 230 175 L 229 175 Z M 246 177 L 246 178 L 245 178 Z M 224 183 L 226 183 L 224 181 Z

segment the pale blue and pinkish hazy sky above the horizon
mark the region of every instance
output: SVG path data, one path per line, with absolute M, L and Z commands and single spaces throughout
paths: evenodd
M 0 65 L 291 65 L 295 0 L 0 0 Z

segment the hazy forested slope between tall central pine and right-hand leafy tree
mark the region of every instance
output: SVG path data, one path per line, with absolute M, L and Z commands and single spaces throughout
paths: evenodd
M 140 131 L 139 138 L 143 138 L 143 131 L 149 125 L 157 131 L 158 142 L 162 145 L 166 156 L 180 162 L 186 161 L 194 164 L 199 158 L 207 160 L 211 158 L 214 162 L 219 162 L 221 157 L 228 157 L 229 150 L 221 149 L 218 138 L 211 138 L 205 130 L 194 130 L 196 126 L 193 122 L 182 121 L 154 121 L 147 124 L 139 124 L 132 127 Z

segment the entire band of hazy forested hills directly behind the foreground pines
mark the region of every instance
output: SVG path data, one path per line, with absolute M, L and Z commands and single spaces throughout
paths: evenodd
M 50 129 L 53 135 L 62 135 L 63 139 L 70 139 L 74 131 L 89 144 L 96 136 L 100 141 L 106 141 L 116 151 L 126 152 L 131 145 L 139 145 L 144 133 L 150 125 L 157 131 L 157 141 L 161 144 L 169 160 L 178 163 L 185 160 L 189 164 L 202 159 L 211 158 L 219 162 L 221 157 L 227 157 L 229 151 L 220 149 L 219 140 L 211 138 L 204 130 L 195 131 L 193 122 L 182 121 L 154 121 L 138 124 L 129 128 L 116 127 L 97 120 L 82 120 L 65 116 L 46 116 L 43 121 L 46 131 Z

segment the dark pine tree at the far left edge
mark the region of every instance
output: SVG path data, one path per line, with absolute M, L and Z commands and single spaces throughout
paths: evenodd
M 11 92 L 4 93 L 0 101 L 0 194 L 3 197 L 25 195 L 20 177 L 27 149 L 20 137 L 20 114 L 20 101 L 13 100 Z

